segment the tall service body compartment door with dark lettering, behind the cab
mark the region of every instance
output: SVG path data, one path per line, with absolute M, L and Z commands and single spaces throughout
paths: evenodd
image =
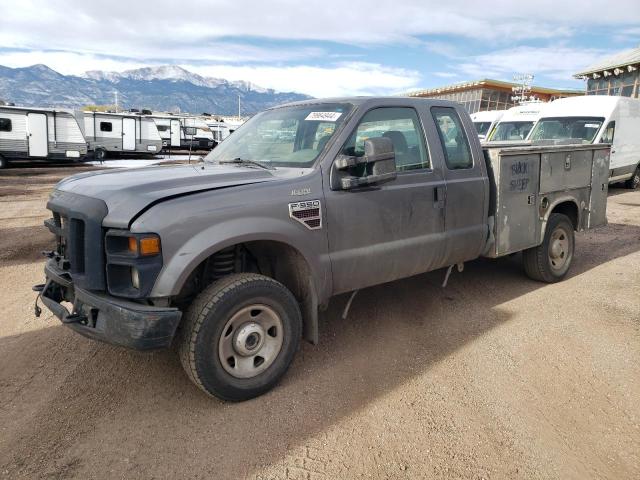
M 499 182 L 496 190 L 496 253 L 506 255 L 537 243 L 540 155 L 500 155 L 499 169 L 496 176 Z

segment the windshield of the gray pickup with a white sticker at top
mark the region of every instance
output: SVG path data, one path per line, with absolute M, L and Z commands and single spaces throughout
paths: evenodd
M 259 113 L 205 157 L 252 160 L 274 167 L 310 167 L 351 110 L 346 103 L 276 108 Z

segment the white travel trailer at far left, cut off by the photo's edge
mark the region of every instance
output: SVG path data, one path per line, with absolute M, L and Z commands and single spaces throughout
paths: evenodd
M 74 112 L 0 106 L 0 168 L 13 159 L 78 161 L 86 154 Z

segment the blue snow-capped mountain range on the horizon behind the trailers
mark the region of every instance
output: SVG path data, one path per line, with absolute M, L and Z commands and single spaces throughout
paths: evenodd
M 92 70 L 62 75 L 46 65 L 9 68 L 0 65 L 0 100 L 30 107 L 78 108 L 113 105 L 115 92 L 123 109 L 251 114 L 281 103 L 311 98 L 277 92 L 250 82 L 203 77 L 182 67 L 165 65 L 124 72 Z

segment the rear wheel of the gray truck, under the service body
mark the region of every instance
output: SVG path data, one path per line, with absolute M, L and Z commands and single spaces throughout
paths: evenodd
M 524 270 L 533 280 L 559 282 L 571 267 L 574 250 L 575 236 L 571 220 L 562 213 L 552 213 L 542 244 L 522 252 Z

